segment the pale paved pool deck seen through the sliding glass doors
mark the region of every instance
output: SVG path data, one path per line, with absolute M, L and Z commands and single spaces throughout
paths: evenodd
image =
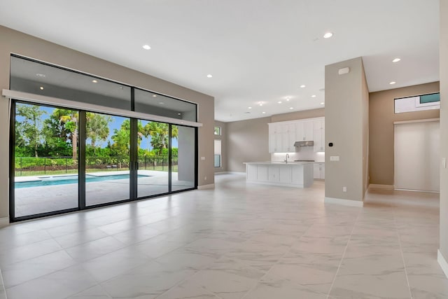
M 108 171 L 89 173 L 94 176 L 110 176 L 129 174 L 125 171 Z M 158 172 L 153 170 L 139 170 L 138 197 L 158 195 L 168 193 L 168 172 Z M 75 175 L 75 174 L 67 174 Z M 51 175 L 52 177 L 67 176 Z M 179 181 L 177 172 L 172 173 L 172 190 L 183 190 L 193 188 L 194 183 L 190 181 Z M 43 176 L 23 176 L 18 177 L 16 182 L 41 181 Z M 85 183 L 86 205 L 104 204 L 117 202 L 130 198 L 130 180 L 113 179 L 105 181 L 92 181 Z M 29 188 L 15 189 L 15 217 L 41 214 L 48 211 L 59 211 L 78 207 L 78 184 L 67 183 L 52 186 L 36 186 Z

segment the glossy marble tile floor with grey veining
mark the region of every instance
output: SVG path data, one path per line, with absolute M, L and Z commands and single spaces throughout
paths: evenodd
M 10 225 L 16 298 L 448 298 L 438 195 L 371 190 L 365 207 L 216 176 L 193 190 Z M 1 295 L 0 295 L 1 298 Z

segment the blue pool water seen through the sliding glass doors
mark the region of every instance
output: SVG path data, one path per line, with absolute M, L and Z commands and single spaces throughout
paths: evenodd
M 139 174 L 139 177 L 145 177 L 146 175 Z M 90 174 L 85 175 L 85 182 L 90 183 L 94 181 L 112 181 L 118 179 L 129 179 L 129 174 L 113 174 L 108 176 L 92 176 Z M 78 175 L 73 176 L 38 176 L 41 181 L 23 181 L 16 182 L 15 188 L 29 188 L 29 187 L 41 187 L 41 186 L 53 186 L 53 185 L 65 185 L 67 183 L 78 183 Z

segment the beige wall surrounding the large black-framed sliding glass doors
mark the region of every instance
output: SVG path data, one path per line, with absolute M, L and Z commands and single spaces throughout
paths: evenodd
M 0 36 L 0 90 L 9 88 L 10 53 L 16 53 L 197 103 L 199 105 L 197 121 L 204 124 L 204 127 L 199 129 L 199 155 L 206 157 L 206 160 L 199 161 L 199 185 L 214 183 L 213 97 L 6 27 L 0 26 Z M 8 216 L 9 168 L 6 158 L 9 156 L 6 142 L 9 137 L 8 105 L 8 100 L 2 97 L 0 99 L 0 138 L 3 142 L 0 144 L 0 156 L 3 158 L 0 159 L 0 219 Z M 205 181 L 205 176 L 210 179 Z

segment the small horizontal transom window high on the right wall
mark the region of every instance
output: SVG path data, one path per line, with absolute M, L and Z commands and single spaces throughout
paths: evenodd
M 440 93 L 395 99 L 395 113 L 440 109 Z

